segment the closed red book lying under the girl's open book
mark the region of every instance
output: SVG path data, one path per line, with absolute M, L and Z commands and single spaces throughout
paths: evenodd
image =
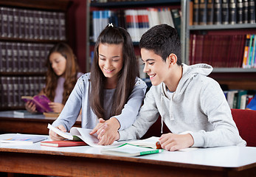
M 50 147 L 70 147 L 70 146 L 81 146 L 81 145 L 87 145 L 87 144 L 85 142 L 62 140 L 62 141 L 41 142 L 41 145 L 50 146 Z

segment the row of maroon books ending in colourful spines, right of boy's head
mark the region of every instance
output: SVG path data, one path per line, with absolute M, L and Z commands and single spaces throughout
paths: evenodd
M 250 44 L 255 42 L 252 43 L 251 40 Z M 213 67 L 255 68 L 255 47 L 247 44 L 246 35 L 190 34 L 190 64 L 208 63 Z M 248 51 L 249 57 L 244 57 Z M 250 61 L 246 65 L 242 64 L 244 58 Z

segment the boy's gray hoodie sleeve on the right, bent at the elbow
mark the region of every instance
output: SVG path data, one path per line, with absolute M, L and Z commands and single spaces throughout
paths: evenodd
M 229 105 L 218 83 L 214 81 L 204 86 L 200 97 L 201 110 L 207 115 L 214 129 L 190 133 L 194 139 L 193 147 L 245 146 L 246 142 L 239 135 Z

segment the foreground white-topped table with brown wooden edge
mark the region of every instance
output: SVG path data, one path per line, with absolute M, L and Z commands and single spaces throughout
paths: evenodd
M 256 175 L 256 147 L 198 148 L 139 157 L 106 156 L 101 148 L 0 144 L 0 171 L 48 176 Z

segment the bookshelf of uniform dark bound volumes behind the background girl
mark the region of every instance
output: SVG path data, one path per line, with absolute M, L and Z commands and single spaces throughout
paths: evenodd
M 49 49 L 68 41 L 69 0 L 0 1 L 0 110 L 24 108 L 44 86 Z

